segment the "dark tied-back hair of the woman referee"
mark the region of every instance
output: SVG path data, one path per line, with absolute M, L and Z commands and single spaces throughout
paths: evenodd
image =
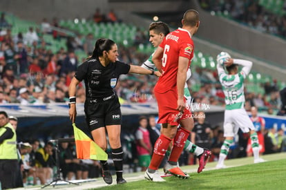
M 104 50 L 111 50 L 111 46 L 115 44 L 111 39 L 99 38 L 95 42 L 95 49 L 93 50 L 93 55 L 95 59 L 99 60 L 99 57 L 103 55 Z

